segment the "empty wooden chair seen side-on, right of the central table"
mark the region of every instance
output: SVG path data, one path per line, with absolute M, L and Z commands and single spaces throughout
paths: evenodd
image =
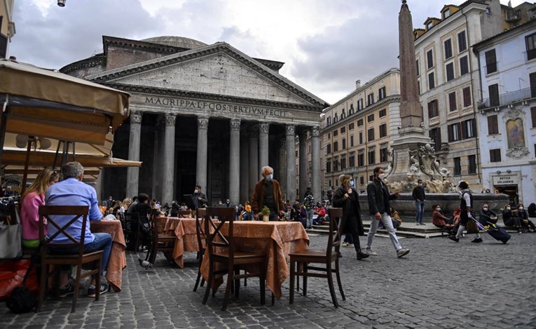
M 294 253 L 290 253 L 290 298 L 289 302 L 294 302 L 294 281 L 295 277 L 303 276 L 303 295 L 307 295 L 307 278 L 327 278 L 329 293 L 335 307 L 338 307 L 337 297 L 333 284 L 333 276 L 337 277 L 338 289 L 341 292 L 343 300 L 345 299 L 343 285 L 341 284 L 341 274 L 338 267 L 338 254 L 341 247 L 341 222 L 343 218 L 342 208 L 331 208 L 329 213 L 329 237 L 326 250 L 312 250 L 306 248 Z M 335 262 L 335 268 L 331 267 L 331 263 Z M 296 263 L 298 263 L 298 271 L 296 271 Z M 310 266 L 310 263 L 325 264 L 325 267 Z M 310 272 L 312 270 L 314 272 Z M 320 272 L 320 273 L 318 273 Z

